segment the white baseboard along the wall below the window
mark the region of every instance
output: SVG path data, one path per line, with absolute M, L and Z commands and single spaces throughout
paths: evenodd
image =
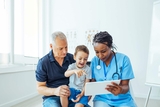
M 20 102 L 22 102 L 22 101 L 28 100 L 28 99 L 30 99 L 30 98 L 32 98 L 32 97 L 35 97 L 35 96 L 37 96 L 37 95 L 38 95 L 38 93 L 32 93 L 32 94 L 30 94 L 30 95 L 26 95 L 26 96 L 24 96 L 24 97 L 20 97 L 20 98 L 17 98 L 17 99 L 15 99 L 15 100 L 8 101 L 8 102 L 6 102 L 6 103 L 0 104 L 0 107 L 10 107 L 10 106 L 13 106 L 13 105 L 15 105 L 15 104 L 18 104 L 18 103 L 20 103 Z

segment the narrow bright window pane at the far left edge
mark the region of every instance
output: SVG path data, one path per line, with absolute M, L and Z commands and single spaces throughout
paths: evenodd
M 5 1 L 0 0 L 0 64 L 9 63 L 8 13 Z

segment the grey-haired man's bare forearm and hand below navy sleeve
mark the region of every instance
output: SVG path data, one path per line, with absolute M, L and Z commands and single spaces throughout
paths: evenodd
M 45 96 L 69 96 L 70 91 L 67 85 L 62 85 L 57 88 L 49 88 L 46 86 L 46 82 L 37 82 L 37 91 L 39 94 L 45 95 Z

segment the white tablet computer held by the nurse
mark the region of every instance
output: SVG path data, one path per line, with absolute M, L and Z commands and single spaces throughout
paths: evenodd
M 119 84 L 120 80 L 87 82 L 85 85 L 85 96 L 111 93 L 105 89 L 107 85 L 112 85 L 111 82 Z

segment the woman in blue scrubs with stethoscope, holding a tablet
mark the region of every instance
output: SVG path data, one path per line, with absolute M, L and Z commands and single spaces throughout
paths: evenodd
M 93 107 L 137 107 L 129 90 L 129 80 L 134 78 L 130 59 L 114 52 L 112 36 L 104 31 L 93 38 L 96 56 L 91 60 L 92 81 L 121 80 L 120 84 L 106 86 L 111 94 L 96 95 Z

